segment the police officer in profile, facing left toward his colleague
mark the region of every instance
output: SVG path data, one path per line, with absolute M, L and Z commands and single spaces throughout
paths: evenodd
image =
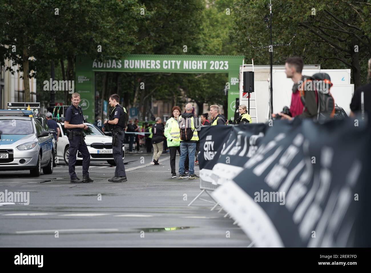
M 118 104 L 119 96 L 117 94 L 109 97 L 109 105 L 114 107 L 111 114 L 109 114 L 109 120 L 104 121 L 104 124 L 109 126 L 112 131 L 112 149 L 113 156 L 116 163 L 115 176 L 108 179 L 109 182 L 125 182 L 126 173 L 124 161 L 122 160 L 122 143 L 125 137 L 125 121 L 126 121 L 126 109 L 122 105 Z

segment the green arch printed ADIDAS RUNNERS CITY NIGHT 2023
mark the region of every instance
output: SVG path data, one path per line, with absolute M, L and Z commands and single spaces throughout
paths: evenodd
M 234 117 L 239 97 L 239 69 L 243 56 L 212 55 L 125 55 L 120 60 L 98 62 L 76 58 L 75 92 L 81 96 L 81 107 L 89 122 L 95 119 L 96 71 L 104 72 L 171 72 L 171 73 L 228 73 L 227 117 Z M 125 105 L 124 105 L 125 107 Z

